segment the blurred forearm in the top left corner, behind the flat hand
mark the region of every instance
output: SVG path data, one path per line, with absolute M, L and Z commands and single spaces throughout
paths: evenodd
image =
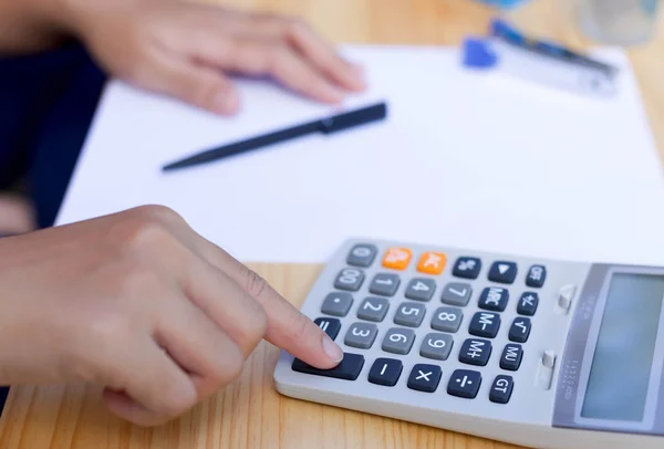
M 0 55 L 56 45 L 70 33 L 71 0 L 0 0 Z

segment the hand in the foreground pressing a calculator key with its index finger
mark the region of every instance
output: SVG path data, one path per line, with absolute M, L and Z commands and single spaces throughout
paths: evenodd
M 0 239 L 0 383 L 95 383 L 143 426 L 234 380 L 266 338 L 320 368 L 341 349 L 174 211 L 141 207 Z

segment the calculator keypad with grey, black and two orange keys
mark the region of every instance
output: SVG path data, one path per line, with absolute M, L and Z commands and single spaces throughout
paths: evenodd
M 521 368 L 541 307 L 537 289 L 544 284 L 544 265 L 461 255 L 447 275 L 444 253 L 403 247 L 381 253 L 372 243 L 353 246 L 344 262 L 321 301 L 320 312 L 328 316 L 314 322 L 332 340 L 341 334 L 343 344 L 357 352 L 345 353 L 333 369 L 295 359 L 294 370 L 354 380 L 365 365 L 362 351 L 380 351 L 384 356 L 370 361 L 365 374 L 371 384 L 394 387 L 405 377 L 407 388 L 434 393 L 445 379 L 447 394 L 474 399 L 487 376 L 486 399 L 509 403 L 515 389 L 510 373 Z M 406 356 L 418 362 L 407 365 Z M 446 372 L 450 363 L 454 368 Z M 457 369 L 459 364 L 468 368 Z

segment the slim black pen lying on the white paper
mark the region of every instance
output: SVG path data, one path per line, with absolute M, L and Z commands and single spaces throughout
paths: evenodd
M 252 149 L 278 144 L 284 140 L 291 140 L 308 134 L 323 133 L 331 134 L 342 129 L 360 126 L 366 123 L 376 122 L 385 118 L 387 106 L 385 103 L 377 103 L 371 106 L 362 107 L 355 111 L 344 112 L 330 117 L 319 118 L 310 123 L 297 125 L 290 128 L 276 130 L 252 137 L 247 140 L 235 142 L 217 148 L 208 149 L 203 153 L 186 157 L 184 159 L 170 163 L 163 167 L 164 171 L 172 171 L 178 168 L 191 167 L 195 165 L 207 164 L 212 160 L 219 160 L 225 157 L 250 152 Z

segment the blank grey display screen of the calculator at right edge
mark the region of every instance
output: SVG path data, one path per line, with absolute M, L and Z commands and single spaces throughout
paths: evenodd
M 663 300 L 663 275 L 612 275 L 582 417 L 643 420 Z

